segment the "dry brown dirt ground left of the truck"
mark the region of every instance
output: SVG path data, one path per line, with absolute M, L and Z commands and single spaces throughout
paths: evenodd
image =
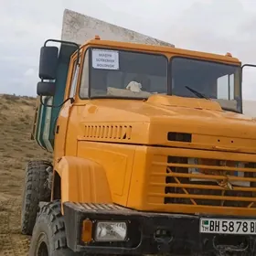
M 20 233 L 25 166 L 49 159 L 30 139 L 36 99 L 0 94 L 0 256 L 27 255 L 29 237 Z

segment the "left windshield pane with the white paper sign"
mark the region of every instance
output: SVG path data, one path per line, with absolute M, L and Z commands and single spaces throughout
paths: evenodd
M 147 98 L 167 92 L 168 60 L 163 55 L 91 50 L 91 97 Z

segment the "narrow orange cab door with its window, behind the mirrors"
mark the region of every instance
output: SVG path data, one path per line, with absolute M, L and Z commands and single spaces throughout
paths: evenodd
M 72 63 L 71 64 L 72 72 L 67 79 L 67 88 L 66 88 L 64 101 L 68 98 L 74 99 L 77 82 L 78 82 L 80 63 L 77 65 L 76 59 L 72 59 L 71 63 Z M 73 103 L 71 103 L 71 101 L 67 101 L 62 106 L 59 112 L 59 117 L 57 120 L 56 130 L 55 130 L 54 163 L 56 163 L 56 161 L 59 161 L 60 157 L 62 157 L 63 155 L 66 155 L 65 148 L 66 148 L 66 140 L 67 140 L 67 128 L 69 124 L 69 116 L 70 116 L 72 107 L 73 107 Z

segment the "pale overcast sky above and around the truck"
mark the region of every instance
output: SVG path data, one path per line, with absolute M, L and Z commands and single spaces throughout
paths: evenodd
M 71 3 L 72 2 L 72 3 Z M 59 38 L 69 8 L 176 45 L 231 52 L 256 64 L 254 0 L 0 0 L 0 93 L 36 95 L 39 49 Z M 244 99 L 256 100 L 256 68 L 246 69 Z

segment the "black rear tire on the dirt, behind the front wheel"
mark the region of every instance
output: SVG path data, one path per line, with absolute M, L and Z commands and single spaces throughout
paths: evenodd
M 21 232 L 31 235 L 39 210 L 39 202 L 49 202 L 51 191 L 48 187 L 47 161 L 30 161 L 27 164 L 21 210 Z

